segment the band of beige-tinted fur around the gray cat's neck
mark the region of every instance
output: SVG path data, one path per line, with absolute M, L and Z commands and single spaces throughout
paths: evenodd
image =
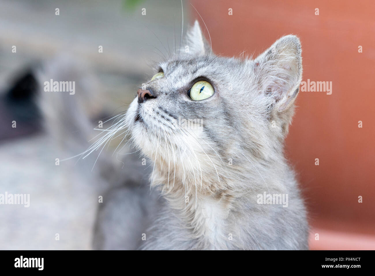
M 283 179 L 288 178 L 290 169 L 282 155 L 272 160 L 248 156 L 243 154 L 226 162 L 212 158 L 213 162 L 201 162 L 195 170 L 181 164 L 156 163 L 151 183 L 183 202 L 191 198 L 238 198 L 285 188 Z

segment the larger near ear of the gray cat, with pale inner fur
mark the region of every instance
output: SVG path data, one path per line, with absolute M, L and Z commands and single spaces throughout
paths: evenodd
M 297 36 L 287 35 L 276 41 L 255 59 L 260 73 L 262 90 L 272 97 L 280 112 L 292 106 L 302 80 L 301 42 Z

